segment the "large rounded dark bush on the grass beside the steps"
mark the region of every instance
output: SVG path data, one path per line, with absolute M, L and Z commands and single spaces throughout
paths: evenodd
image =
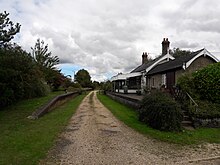
M 139 120 L 155 129 L 180 131 L 183 114 L 180 106 L 168 95 L 159 91 L 144 96 L 138 110 Z

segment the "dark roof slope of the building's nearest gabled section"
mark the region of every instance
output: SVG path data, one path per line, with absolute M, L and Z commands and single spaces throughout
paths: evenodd
M 201 49 L 201 50 L 198 50 L 196 52 L 190 53 L 189 55 L 177 57 L 174 60 L 170 60 L 168 62 L 159 64 L 159 65 L 155 66 L 153 69 L 151 69 L 147 73 L 147 75 L 152 75 L 152 74 L 164 72 L 164 71 L 167 71 L 167 70 L 173 70 L 173 69 L 181 68 L 183 66 L 183 63 L 188 62 L 189 60 L 191 60 L 193 57 L 198 55 L 203 50 L 204 49 Z

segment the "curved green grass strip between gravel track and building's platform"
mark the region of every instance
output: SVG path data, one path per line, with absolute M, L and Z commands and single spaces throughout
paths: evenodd
M 180 133 L 155 130 L 138 121 L 138 115 L 134 109 L 120 104 L 105 95 L 99 94 L 98 98 L 119 120 L 144 135 L 181 145 L 200 144 L 204 142 L 220 143 L 220 129 L 200 128 L 194 131 L 184 130 Z

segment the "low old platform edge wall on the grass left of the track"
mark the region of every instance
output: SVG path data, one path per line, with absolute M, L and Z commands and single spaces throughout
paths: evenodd
M 39 117 L 45 115 L 46 113 L 53 110 L 54 107 L 61 105 L 69 99 L 72 99 L 79 95 L 79 92 L 69 92 L 63 95 L 59 95 L 50 100 L 47 104 L 40 107 L 38 110 L 32 113 L 32 115 L 28 116 L 29 119 L 38 119 Z

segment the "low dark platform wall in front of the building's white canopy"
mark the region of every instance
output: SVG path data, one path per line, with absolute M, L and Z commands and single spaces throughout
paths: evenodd
M 112 93 L 112 92 L 107 92 L 106 95 L 111 97 L 113 100 L 116 100 L 122 104 L 128 105 L 135 109 L 138 109 L 141 106 L 141 101 L 137 99 L 117 95 L 116 93 Z

